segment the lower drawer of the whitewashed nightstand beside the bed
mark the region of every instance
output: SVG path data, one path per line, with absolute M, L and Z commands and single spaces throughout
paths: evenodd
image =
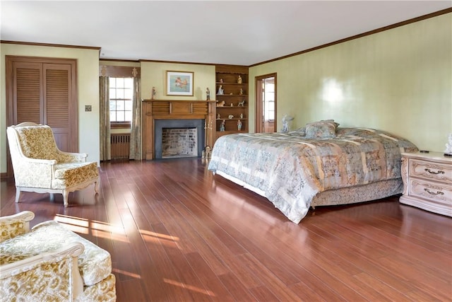
M 452 185 L 411 178 L 408 195 L 452 204 Z

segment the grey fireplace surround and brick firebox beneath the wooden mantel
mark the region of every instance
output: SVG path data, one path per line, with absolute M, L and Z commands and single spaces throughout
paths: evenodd
M 155 158 L 201 156 L 204 120 L 155 120 Z

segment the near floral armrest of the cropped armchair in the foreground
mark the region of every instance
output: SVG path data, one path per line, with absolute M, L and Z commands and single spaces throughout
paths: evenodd
M 83 249 L 83 244 L 71 243 L 52 252 L 1 265 L 0 296 L 6 301 L 10 301 L 8 298 L 47 301 L 54 297 L 75 301 L 83 293 L 77 263 Z M 49 286 L 53 280 L 59 281 L 59 286 Z

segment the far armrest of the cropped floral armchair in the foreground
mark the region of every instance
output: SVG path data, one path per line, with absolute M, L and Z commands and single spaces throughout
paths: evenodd
M 0 243 L 30 231 L 30 221 L 35 218 L 32 211 L 0 217 Z

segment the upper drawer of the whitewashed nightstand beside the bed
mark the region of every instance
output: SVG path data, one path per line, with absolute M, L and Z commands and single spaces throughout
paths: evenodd
M 452 166 L 410 158 L 410 176 L 452 183 Z

